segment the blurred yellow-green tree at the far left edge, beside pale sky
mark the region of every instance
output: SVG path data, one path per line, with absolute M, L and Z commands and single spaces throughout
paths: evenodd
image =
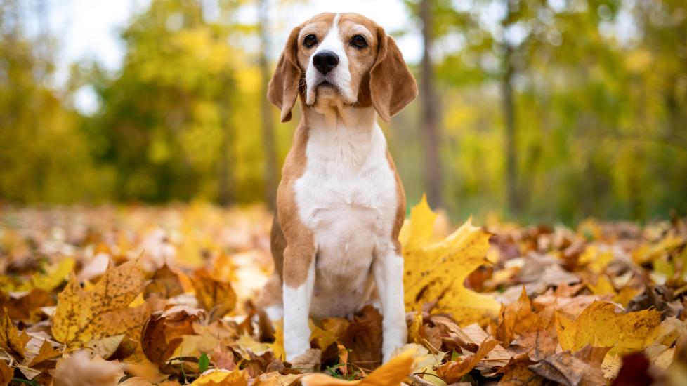
M 48 86 L 53 44 L 45 34 L 38 42 L 25 35 L 29 11 L 0 0 L 0 200 L 101 199 L 107 178 L 92 167 L 78 114 Z

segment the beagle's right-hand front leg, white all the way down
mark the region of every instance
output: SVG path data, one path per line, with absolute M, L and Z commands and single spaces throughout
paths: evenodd
M 383 249 L 374 258 L 373 273 L 383 315 L 381 353 L 386 362 L 398 347 L 407 343 L 408 331 L 403 304 L 403 258 L 393 245 Z

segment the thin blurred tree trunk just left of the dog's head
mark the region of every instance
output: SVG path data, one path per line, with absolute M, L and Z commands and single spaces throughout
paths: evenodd
M 261 122 L 263 133 L 263 149 L 265 149 L 265 200 L 270 208 L 275 208 L 277 195 L 277 147 L 275 145 L 274 132 L 274 115 L 273 107 L 267 100 L 267 85 L 270 81 L 270 67 L 267 58 L 269 50 L 269 4 L 268 0 L 259 0 L 258 13 L 259 22 L 258 29 L 261 41 L 260 49 L 260 77 L 261 77 L 261 93 L 260 93 L 260 108 L 261 108 Z

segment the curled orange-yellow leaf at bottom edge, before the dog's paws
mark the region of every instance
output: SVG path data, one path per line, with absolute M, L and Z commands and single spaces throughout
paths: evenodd
M 383 366 L 377 368 L 374 373 L 361 380 L 340 380 L 325 374 L 306 375 L 301 379 L 303 386 L 338 386 L 338 385 L 361 385 L 361 386 L 381 386 L 381 385 L 400 385 L 407 375 L 412 371 L 413 352 L 405 351 L 392 358 Z

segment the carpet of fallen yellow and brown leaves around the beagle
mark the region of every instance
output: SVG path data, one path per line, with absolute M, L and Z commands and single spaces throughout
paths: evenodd
M 381 367 L 372 307 L 311 321 L 311 363 L 283 361 L 280 322 L 251 301 L 269 222 L 203 205 L 4 210 L 0 385 L 687 382 L 686 220 L 447 232 L 422 201 L 400 234 L 409 342 Z

